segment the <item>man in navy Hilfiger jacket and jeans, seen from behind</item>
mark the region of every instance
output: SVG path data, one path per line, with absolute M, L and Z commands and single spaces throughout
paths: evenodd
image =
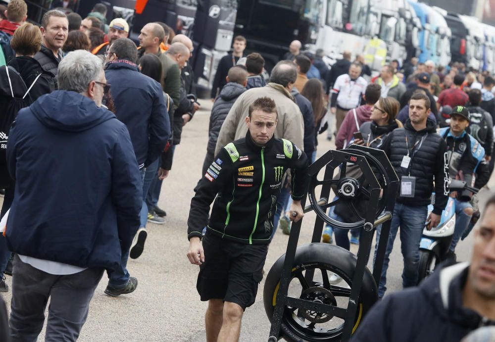
M 170 137 L 170 119 L 160 84 L 139 71 L 137 60 L 138 50 L 134 42 L 127 38 L 117 39 L 108 49 L 105 76 L 113 84 L 115 115 L 129 130 L 142 174 L 146 169 L 149 171 L 147 174 L 155 174 L 159 166 L 158 157 Z M 146 195 L 152 178 L 144 179 L 141 223 L 129 254 L 133 259 L 143 252 L 148 236 L 145 228 L 148 221 Z M 106 294 L 123 294 L 116 289 L 122 289 L 129 279 L 126 264 L 127 260 L 121 270 L 111 274 Z

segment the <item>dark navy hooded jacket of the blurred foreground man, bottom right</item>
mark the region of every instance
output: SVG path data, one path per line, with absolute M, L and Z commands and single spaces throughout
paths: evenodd
M 468 264 L 435 271 L 417 288 L 392 293 L 366 315 L 350 342 L 459 342 L 471 331 L 494 325 L 462 306 Z

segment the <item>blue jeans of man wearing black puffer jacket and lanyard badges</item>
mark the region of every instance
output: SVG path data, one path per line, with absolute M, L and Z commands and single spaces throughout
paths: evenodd
M 425 227 L 426 217 L 428 215 L 427 206 L 408 206 L 397 203 L 394 207 L 392 222 L 390 224 L 390 235 L 383 260 L 382 276 L 378 286 L 378 296 L 381 298 L 387 291 L 387 269 L 389 268 L 390 253 L 394 247 L 397 231 L 400 226 L 400 250 L 404 260 L 404 270 L 402 271 L 402 287 L 407 288 L 416 286 L 418 283 L 418 265 L 419 265 L 419 244 Z M 377 227 L 375 256 L 380 241 L 382 227 Z

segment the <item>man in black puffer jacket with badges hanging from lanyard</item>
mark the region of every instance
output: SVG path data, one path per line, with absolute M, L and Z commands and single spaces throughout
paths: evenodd
M 433 103 L 435 105 L 435 103 Z M 430 214 L 431 227 L 440 223 L 442 210 L 448 196 L 448 165 L 446 143 L 436 133 L 436 125 L 428 119 L 430 99 L 421 93 L 414 94 L 409 101 L 409 120 L 404 128 L 392 131 L 385 139 L 382 149 L 400 179 L 389 242 L 383 263 L 378 295 L 383 297 L 387 288 L 389 256 L 400 226 L 401 250 L 404 257 L 402 286 L 418 283 L 419 243 L 428 215 L 428 204 L 435 191 L 435 204 Z M 435 189 L 433 181 L 435 180 Z M 381 229 L 377 229 L 377 241 Z M 378 341 L 378 340 L 377 340 Z

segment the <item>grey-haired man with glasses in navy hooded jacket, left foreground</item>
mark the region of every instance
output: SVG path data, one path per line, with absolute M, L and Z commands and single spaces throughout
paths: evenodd
M 126 126 L 101 106 L 101 60 L 69 53 L 58 82 L 19 111 L 7 144 L 14 341 L 36 340 L 49 297 L 46 339 L 77 340 L 103 271 L 120 267 L 139 227 L 142 180 Z

